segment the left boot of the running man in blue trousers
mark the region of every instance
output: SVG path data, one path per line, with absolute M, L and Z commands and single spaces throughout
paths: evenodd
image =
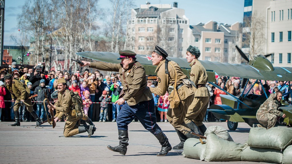
M 119 140 L 120 143 L 118 146 L 107 146 L 107 149 L 111 150 L 111 151 L 116 151 L 119 152 L 120 154 L 125 155 L 127 153 L 127 146 L 128 144 L 128 131 L 127 130 L 118 130 L 119 132 Z

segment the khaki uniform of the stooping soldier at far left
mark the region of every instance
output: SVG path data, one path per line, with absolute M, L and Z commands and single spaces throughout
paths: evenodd
M 29 99 L 29 93 L 26 90 L 26 86 L 16 79 L 12 79 L 11 86 L 6 85 L 7 89 L 11 93 L 12 99 L 15 100 L 15 104 L 18 103 L 20 100 L 25 100 L 25 107 L 29 112 L 32 112 L 34 109 L 32 107 L 32 100 Z M 13 107 L 14 111 L 18 111 L 21 104 L 17 104 Z

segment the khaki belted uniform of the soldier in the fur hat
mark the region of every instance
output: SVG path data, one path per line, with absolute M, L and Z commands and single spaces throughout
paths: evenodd
M 197 126 L 201 126 L 203 125 L 203 120 L 210 100 L 210 94 L 206 87 L 208 76 L 206 69 L 199 60 L 193 60 L 190 66 L 190 80 L 195 83 L 197 88 L 193 87 L 195 91 L 194 100 L 187 110 L 185 123 L 194 121 Z

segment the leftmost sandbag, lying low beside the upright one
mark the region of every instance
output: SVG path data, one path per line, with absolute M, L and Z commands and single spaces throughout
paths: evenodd
M 189 138 L 183 145 L 183 156 L 204 160 L 206 144 L 201 144 L 197 138 Z

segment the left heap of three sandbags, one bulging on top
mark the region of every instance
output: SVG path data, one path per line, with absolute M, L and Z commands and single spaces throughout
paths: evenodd
M 228 131 L 222 126 L 208 127 L 205 136 L 207 137 L 206 144 L 201 144 L 199 139 L 187 139 L 183 156 L 205 161 L 241 160 L 241 151 L 244 146 L 233 142 Z

